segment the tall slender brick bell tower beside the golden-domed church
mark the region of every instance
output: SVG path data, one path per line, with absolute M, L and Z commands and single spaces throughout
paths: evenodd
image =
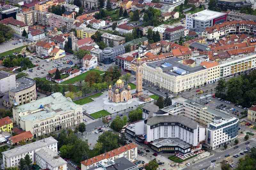
M 141 58 L 137 58 L 137 64 L 136 64 L 136 92 L 137 96 L 140 96 L 143 94 L 142 92 L 142 64 L 141 64 Z

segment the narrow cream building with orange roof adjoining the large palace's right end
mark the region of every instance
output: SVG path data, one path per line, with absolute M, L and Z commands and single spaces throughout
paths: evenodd
M 204 61 L 200 65 L 207 68 L 207 84 L 215 83 L 220 79 L 220 64 L 218 62 Z

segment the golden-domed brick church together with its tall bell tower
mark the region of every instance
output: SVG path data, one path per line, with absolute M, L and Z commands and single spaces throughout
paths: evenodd
M 115 87 L 108 87 L 108 99 L 112 102 L 126 102 L 132 98 L 143 95 L 142 92 L 142 64 L 141 58 L 137 58 L 136 63 L 136 92 L 131 93 L 131 86 L 124 85 L 124 81 L 120 78 L 116 81 Z

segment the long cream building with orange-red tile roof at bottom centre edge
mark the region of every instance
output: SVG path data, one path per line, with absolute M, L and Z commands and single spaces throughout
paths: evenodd
M 110 160 L 116 160 L 119 158 L 126 158 L 131 162 L 137 160 L 137 145 L 130 143 L 119 148 L 116 148 L 112 151 L 105 152 L 98 156 L 92 157 L 90 159 L 83 160 L 81 162 L 81 170 L 90 169 L 97 166 L 101 162 L 108 162 Z

